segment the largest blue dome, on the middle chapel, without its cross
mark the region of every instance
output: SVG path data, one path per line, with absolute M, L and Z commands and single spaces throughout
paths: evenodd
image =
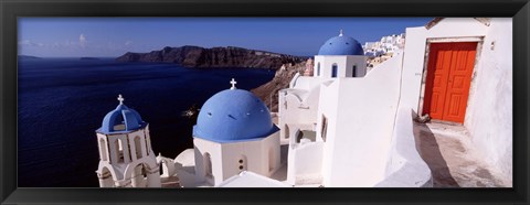
M 254 94 L 225 89 L 204 102 L 193 136 L 223 143 L 261 139 L 277 130 L 267 107 Z

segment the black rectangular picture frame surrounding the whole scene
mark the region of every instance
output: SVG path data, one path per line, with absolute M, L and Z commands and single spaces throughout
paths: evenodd
M 528 0 L 0 0 L 2 204 L 528 204 Z M 511 17 L 513 188 L 18 188 L 19 17 Z M 279 32 L 279 31 L 278 31 Z

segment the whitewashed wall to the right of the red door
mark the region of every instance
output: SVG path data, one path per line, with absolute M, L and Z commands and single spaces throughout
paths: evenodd
M 512 21 L 492 19 L 476 66 L 465 126 L 484 160 L 512 181 Z M 495 48 L 491 50 L 491 42 Z

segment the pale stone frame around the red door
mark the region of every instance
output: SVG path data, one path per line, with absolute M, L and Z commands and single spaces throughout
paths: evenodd
M 476 42 L 477 43 L 477 48 L 476 48 L 476 54 L 475 54 L 475 65 L 473 66 L 473 72 L 471 72 L 471 79 L 470 79 L 470 86 L 469 86 L 469 93 L 468 93 L 468 98 L 467 98 L 467 104 L 466 107 L 469 107 L 470 101 L 474 99 L 474 94 L 475 94 L 475 88 L 476 88 L 476 75 L 477 75 L 477 64 L 479 63 L 480 60 L 480 53 L 483 51 L 483 43 L 484 43 L 484 36 L 463 36 L 463 37 L 427 37 L 425 42 L 425 51 L 424 51 L 424 61 L 423 61 L 423 72 L 422 72 L 422 85 L 420 88 L 420 100 L 417 105 L 417 116 L 423 115 L 423 107 L 424 107 L 424 99 L 425 99 L 425 93 L 426 87 L 425 84 L 427 82 L 427 67 L 428 67 L 428 54 L 431 52 L 431 43 L 464 43 L 464 42 Z M 467 111 L 468 109 L 466 108 L 466 114 L 464 116 L 464 122 L 467 119 Z M 457 123 L 457 122 L 455 122 Z

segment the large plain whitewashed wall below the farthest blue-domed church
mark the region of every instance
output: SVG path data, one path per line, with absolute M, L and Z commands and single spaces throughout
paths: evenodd
M 338 78 L 322 87 L 317 138 L 321 138 L 325 115 L 325 186 L 369 187 L 385 176 L 401 62 L 402 56 L 396 55 L 363 78 Z

